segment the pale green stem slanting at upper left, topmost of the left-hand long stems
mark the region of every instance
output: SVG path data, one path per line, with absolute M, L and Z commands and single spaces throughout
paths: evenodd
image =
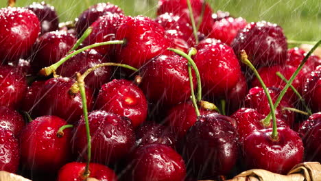
M 51 75 L 51 73 L 55 73 L 56 69 L 58 69 L 58 67 L 60 67 L 60 65 L 62 65 L 64 62 L 66 62 L 69 58 L 77 55 L 78 53 L 82 53 L 82 51 L 85 51 L 86 49 L 92 49 L 92 48 L 100 47 L 100 46 L 104 46 L 104 45 L 123 44 L 125 42 L 126 42 L 126 40 L 111 40 L 111 41 L 106 41 L 106 42 L 102 42 L 102 43 L 94 43 L 92 45 L 88 45 L 86 47 L 83 47 L 82 49 L 78 49 L 76 51 L 73 51 L 72 53 L 69 53 L 68 56 L 65 56 L 64 58 L 62 58 L 58 62 L 51 64 L 51 66 L 41 69 L 39 71 L 39 74 L 44 75 L 44 76 L 49 76 L 49 75 Z

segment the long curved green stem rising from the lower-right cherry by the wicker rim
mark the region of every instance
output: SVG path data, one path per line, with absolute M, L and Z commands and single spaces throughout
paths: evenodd
M 272 113 L 272 119 L 273 119 L 273 131 L 272 131 L 272 138 L 277 139 L 278 138 L 278 131 L 277 131 L 277 127 L 276 127 L 276 116 L 275 116 L 275 110 L 274 110 L 274 106 L 273 106 L 273 101 L 271 98 L 271 95 L 269 93 L 268 88 L 266 87 L 265 83 L 263 82 L 259 72 L 257 71 L 257 69 L 255 69 L 255 67 L 253 66 L 253 64 L 250 62 L 250 60 L 248 60 L 248 55 L 246 54 L 246 51 L 242 50 L 241 51 L 241 61 L 246 64 L 248 67 L 250 67 L 250 69 L 252 69 L 252 71 L 254 72 L 255 76 L 257 77 L 257 79 L 259 80 L 259 82 L 261 83 L 261 86 L 264 90 L 264 93 L 266 95 L 266 97 L 268 98 L 268 102 L 270 105 L 270 110 Z M 266 117 L 263 120 L 263 124 L 264 125 L 270 125 L 271 121 L 270 121 L 270 117 Z

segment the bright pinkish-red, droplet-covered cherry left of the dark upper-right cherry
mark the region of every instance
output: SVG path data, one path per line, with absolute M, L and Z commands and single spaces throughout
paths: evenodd
M 209 34 L 209 37 L 216 38 L 221 40 L 222 43 L 226 43 L 230 45 L 237 35 L 239 29 L 243 29 L 246 27 L 248 23 L 246 23 L 245 19 L 239 18 L 226 18 L 221 19 L 219 21 L 215 21 L 212 27 L 212 32 Z

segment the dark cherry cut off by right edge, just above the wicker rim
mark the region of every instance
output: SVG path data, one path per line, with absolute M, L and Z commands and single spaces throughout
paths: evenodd
M 299 134 L 305 145 L 305 160 L 321 161 L 320 136 L 321 136 L 321 112 L 312 114 L 307 121 L 300 125 Z

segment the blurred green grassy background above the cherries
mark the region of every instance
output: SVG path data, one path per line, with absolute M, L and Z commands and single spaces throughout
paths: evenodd
M 38 0 L 16 0 L 25 6 Z M 39 0 L 41 1 L 41 0 Z M 158 0 L 109 0 L 127 15 L 154 17 Z M 288 39 L 319 40 L 321 38 L 321 0 L 207 0 L 214 11 L 224 10 L 250 21 L 270 21 L 281 25 Z M 102 0 L 46 0 L 60 16 L 60 22 L 75 19 L 80 12 Z M 0 0 L 5 7 L 6 0 Z

